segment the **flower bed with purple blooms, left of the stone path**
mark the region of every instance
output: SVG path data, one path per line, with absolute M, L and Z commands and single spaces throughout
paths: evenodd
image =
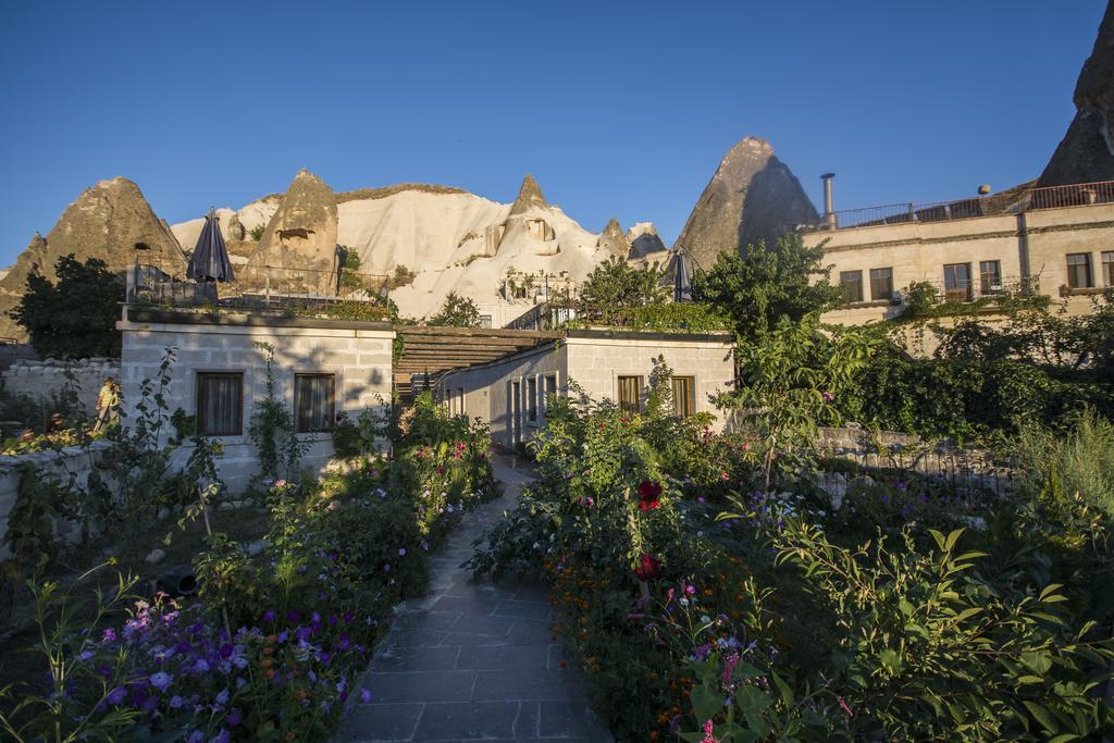
M 420 405 L 393 457 L 266 492 L 265 547 L 214 534 L 197 597 L 136 600 L 120 578 L 91 616 L 32 581 L 50 687 L 6 688 L 17 740 L 324 740 L 374 690 L 358 685 L 391 607 L 420 594 L 428 553 L 491 493 L 486 429 Z M 126 619 L 119 609 L 130 606 Z M 69 737 L 66 737 L 69 736 Z

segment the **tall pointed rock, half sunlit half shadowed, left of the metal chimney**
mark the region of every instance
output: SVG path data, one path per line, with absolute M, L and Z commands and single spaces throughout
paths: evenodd
M 759 241 L 772 246 L 783 233 L 818 219 L 800 182 L 770 143 L 746 137 L 720 163 L 676 246 L 706 271 L 720 253 L 745 252 Z

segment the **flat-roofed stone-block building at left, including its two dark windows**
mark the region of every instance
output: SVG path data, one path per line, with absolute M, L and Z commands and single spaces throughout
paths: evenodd
M 221 477 L 234 492 L 258 471 L 248 436 L 255 405 L 266 397 L 267 352 L 258 344 L 274 349 L 275 397 L 286 403 L 297 436 L 309 444 L 305 467 L 320 470 L 332 457 L 339 413 L 383 405 L 391 398 L 390 323 L 129 309 L 118 326 L 126 420 L 135 420 L 140 385 L 158 379 L 167 349 L 174 349 L 168 412 L 195 416 L 198 433 L 223 446 Z M 189 452 L 189 447 L 178 449 L 176 463 Z

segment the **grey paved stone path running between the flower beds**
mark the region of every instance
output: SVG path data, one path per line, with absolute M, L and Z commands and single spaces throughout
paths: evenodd
M 579 668 L 561 667 L 545 587 L 473 579 L 459 567 L 532 477 L 514 457 L 492 465 L 506 492 L 465 516 L 430 560 L 429 593 L 395 608 L 363 680 L 372 703 L 356 707 L 336 741 L 612 741 Z

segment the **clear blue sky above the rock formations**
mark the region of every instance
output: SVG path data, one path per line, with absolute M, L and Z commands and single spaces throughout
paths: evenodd
M 1037 176 L 1104 0 L 58 2 L 0 26 L 0 263 L 97 180 L 168 222 L 305 167 L 680 233 L 755 135 L 837 208 Z

